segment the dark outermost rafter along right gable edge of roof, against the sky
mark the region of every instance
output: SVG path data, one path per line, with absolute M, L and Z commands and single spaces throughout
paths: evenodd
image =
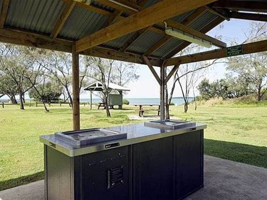
M 216 27 L 217 25 L 222 23 L 223 21 L 224 21 L 224 19 L 218 17 L 213 22 L 211 22 L 208 26 L 206 26 L 203 29 L 201 29 L 200 32 L 207 33 L 211 29 L 213 29 L 214 27 Z M 191 42 L 184 42 L 182 45 L 178 46 L 177 48 L 173 49 L 170 53 L 168 53 L 168 55 L 165 56 L 165 59 L 168 59 L 168 58 L 171 58 L 172 56 L 175 56 L 177 53 L 182 51 L 184 48 L 188 47 L 190 44 L 192 44 L 192 43 Z

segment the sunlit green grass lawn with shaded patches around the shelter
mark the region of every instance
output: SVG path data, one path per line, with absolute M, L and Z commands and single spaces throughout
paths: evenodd
M 107 127 L 140 123 L 127 115 L 137 114 L 133 106 L 104 110 L 81 106 L 81 128 Z M 205 154 L 267 168 L 267 105 L 266 103 L 232 103 L 199 106 L 183 113 L 183 106 L 172 106 L 171 115 L 184 120 L 206 123 Z M 0 190 L 43 178 L 43 145 L 39 135 L 71 130 L 72 112 L 67 106 L 42 107 L 8 105 L 0 107 Z

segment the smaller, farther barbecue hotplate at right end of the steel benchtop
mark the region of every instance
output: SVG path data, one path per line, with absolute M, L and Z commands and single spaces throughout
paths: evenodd
M 169 128 L 175 130 L 178 128 L 196 127 L 196 122 L 164 119 L 158 121 L 145 122 L 144 125 L 148 127 Z

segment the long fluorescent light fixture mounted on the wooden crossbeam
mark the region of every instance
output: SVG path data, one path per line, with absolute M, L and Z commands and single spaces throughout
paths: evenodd
M 204 40 L 204 39 L 201 39 L 199 37 L 196 37 L 194 35 L 191 35 L 189 33 L 186 33 L 184 31 L 180 31 L 180 30 L 175 29 L 173 27 L 166 27 L 165 33 L 167 35 L 171 35 L 171 36 L 179 38 L 181 40 L 186 40 L 186 41 L 201 45 L 201 46 L 206 47 L 206 48 L 212 47 L 211 42 Z

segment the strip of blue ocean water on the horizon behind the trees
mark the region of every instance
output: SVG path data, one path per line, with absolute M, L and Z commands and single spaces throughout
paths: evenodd
M 131 105 L 134 104 L 159 104 L 159 98 L 127 98 L 130 102 Z M 0 100 L 7 100 L 7 99 L 0 99 Z M 31 99 L 25 99 L 26 101 L 29 101 Z M 19 100 L 17 100 L 19 102 Z M 81 98 L 80 102 L 89 102 L 90 99 L 89 98 Z M 189 98 L 189 102 L 193 101 L 193 98 Z M 93 98 L 92 102 L 101 102 L 100 99 L 98 98 Z M 173 98 L 172 102 L 175 105 L 181 105 L 184 103 L 184 99 L 181 97 L 178 98 Z

